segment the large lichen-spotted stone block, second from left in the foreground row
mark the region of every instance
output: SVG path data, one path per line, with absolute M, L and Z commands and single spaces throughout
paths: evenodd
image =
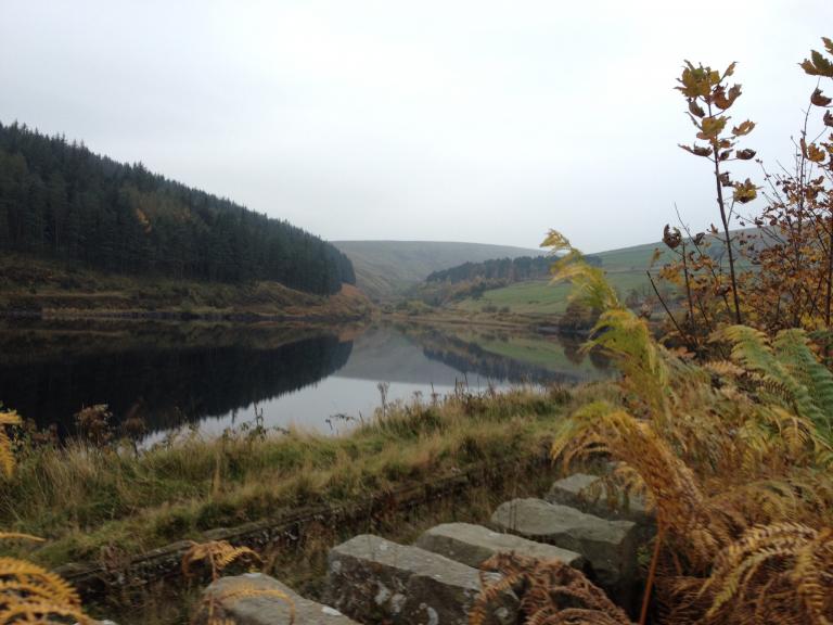
M 370 534 L 331 549 L 328 564 L 325 601 L 363 623 L 466 625 L 480 592 L 477 570 Z M 507 594 L 487 622 L 514 623 L 516 614 L 517 599 Z

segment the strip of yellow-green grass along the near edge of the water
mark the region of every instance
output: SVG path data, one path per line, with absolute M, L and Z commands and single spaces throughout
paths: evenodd
M 460 393 L 389 407 L 344 437 L 255 426 L 214 441 L 183 433 L 139 455 L 24 442 L 14 476 L 0 485 L 0 526 L 47 538 L 27 556 L 50 566 L 198 539 L 210 528 L 349 502 L 475 462 L 540 455 L 586 392 L 577 393 Z

